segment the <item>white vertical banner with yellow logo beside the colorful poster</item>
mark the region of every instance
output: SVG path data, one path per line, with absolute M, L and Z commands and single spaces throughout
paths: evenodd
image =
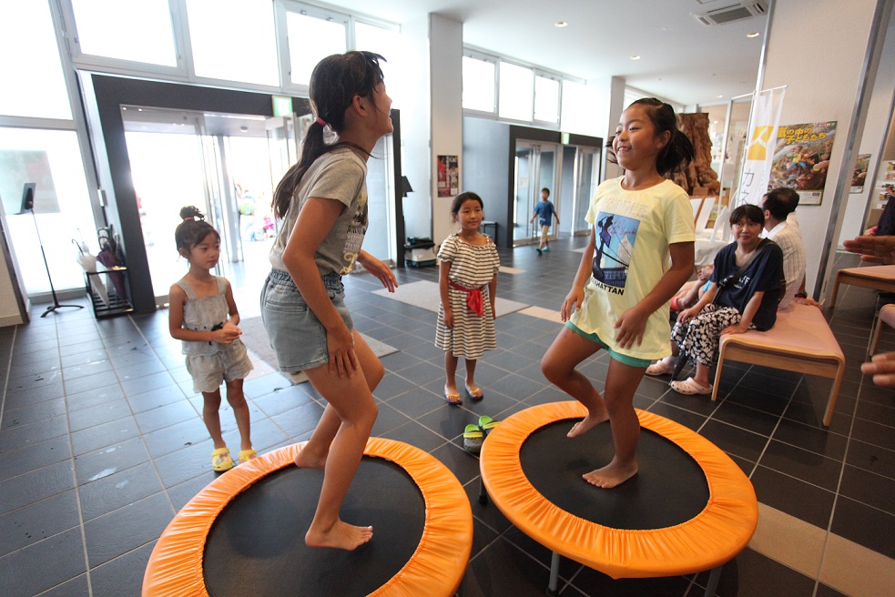
M 739 177 L 735 206 L 744 203 L 758 205 L 761 197 L 768 192 L 771 158 L 774 156 L 774 131 L 780 124 L 785 95 L 786 87 L 777 87 L 759 92 L 752 100 L 746 158 Z

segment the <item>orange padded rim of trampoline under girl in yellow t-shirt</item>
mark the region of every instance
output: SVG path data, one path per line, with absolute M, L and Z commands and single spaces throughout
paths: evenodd
M 640 425 L 674 442 L 705 474 L 709 497 L 702 511 L 671 527 L 625 530 L 586 521 L 547 501 L 525 477 L 519 460 L 522 445 L 544 425 L 586 414 L 577 401 L 535 406 L 503 420 L 485 440 L 484 486 L 520 531 L 615 579 L 703 572 L 729 562 L 746 547 L 758 524 L 758 501 L 747 476 L 695 431 L 643 410 L 637 410 Z

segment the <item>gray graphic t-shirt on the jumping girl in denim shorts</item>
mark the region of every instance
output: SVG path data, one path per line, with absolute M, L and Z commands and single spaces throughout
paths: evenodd
M 349 147 L 341 147 L 318 157 L 301 177 L 286 218 L 270 248 L 270 265 L 286 271 L 283 250 L 292 228 L 308 197 L 335 199 L 345 205 L 339 218 L 317 252 L 314 260 L 320 276 L 347 274 L 354 267 L 367 232 L 367 164 Z

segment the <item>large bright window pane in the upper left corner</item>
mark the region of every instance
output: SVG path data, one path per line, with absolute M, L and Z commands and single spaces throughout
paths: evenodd
M 0 3 L 0 114 L 71 119 L 57 48 L 46 2 Z

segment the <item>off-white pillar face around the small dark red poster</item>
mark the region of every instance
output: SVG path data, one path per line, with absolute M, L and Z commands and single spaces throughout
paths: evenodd
M 441 243 L 455 228 L 452 197 L 438 197 L 439 156 L 457 156 L 463 180 L 463 23 L 429 15 L 429 73 L 432 98 L 432 240 Z M 463 189 L 460 189 L 463 192 Z

